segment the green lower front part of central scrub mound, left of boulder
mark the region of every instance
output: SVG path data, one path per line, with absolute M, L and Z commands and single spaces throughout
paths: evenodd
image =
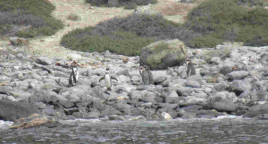
M 75 29 L 70 32 L 78 37 L 69 37 L 70 34 L 64 35 L 61 44 L 67 46 L 69 49 L 88 51 L 88 52 L 102 52 L 109 50 L 117 54 L 124 54 L 128 56 L 140 55 L 140 49 L 156 42 L 154 38 L 141 38 L 132 32 L 122 32 L 120 30 L 111 32 L 110 36 L 99 35 L 79 35 L 81 31 L 94 31 L 96 27 L 86 27 L 84 29 Z M 72 36 L 74 36 L 72 35 Z

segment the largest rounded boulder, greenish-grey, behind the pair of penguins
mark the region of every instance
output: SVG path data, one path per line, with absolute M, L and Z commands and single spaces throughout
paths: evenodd
M 140 65 L 148 65 L 151 70 L 181 66 L 187 57 L 183 41 L 165 39 L 143 47 L 140 53 Z

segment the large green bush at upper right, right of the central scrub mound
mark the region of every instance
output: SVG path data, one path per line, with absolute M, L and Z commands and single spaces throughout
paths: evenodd
M 244 42 L 247 46 L 267 46 L 268 33 L 264 29 L 268 28 L 268 10 L 263 7 L 248 9 L 247 6 L 242 7 L 237 3 L 262 6 L 260 1 L 250 0 L 203 2 L 192 10 L 184 25 L 203 35 L 192 39 L 190 43 L 196 47 L 213 47 L 215 42 L 231 40 Z M 215 42 L 207 38 L 213 38 Z M 203 43 L 196 45 L 200 41 Z

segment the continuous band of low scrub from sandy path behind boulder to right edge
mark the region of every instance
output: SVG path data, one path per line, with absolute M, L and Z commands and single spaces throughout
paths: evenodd
M 180 39 L 192 48 L 215 47 L 224 41 L 267 46 L 265 5 L 261 0 L 206 1 L 183 24 L 161 14 L 115 17 L 95 27 L 75 29 L 62 37 L 61 44 L 79 51 L 109 50 L 128 56 L 139 55 L 142 47 L 162 39 Z

